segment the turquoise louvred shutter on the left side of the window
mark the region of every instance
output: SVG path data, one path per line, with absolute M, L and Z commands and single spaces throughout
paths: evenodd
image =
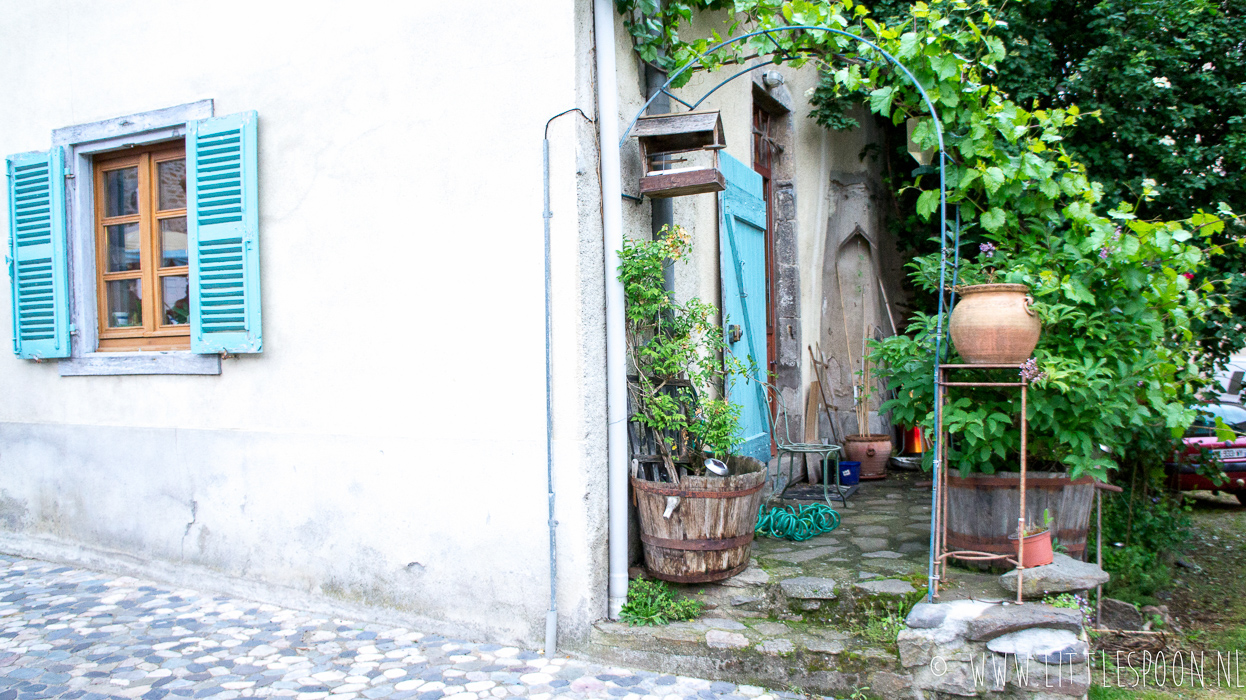
M 10 156 L 7 172 L 12 351 L 27 360 L 69 357 L 62 149 Z

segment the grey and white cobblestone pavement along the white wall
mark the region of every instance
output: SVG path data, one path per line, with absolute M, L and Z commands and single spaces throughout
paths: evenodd
M 775 700 L 0 556 L 0 700 Z

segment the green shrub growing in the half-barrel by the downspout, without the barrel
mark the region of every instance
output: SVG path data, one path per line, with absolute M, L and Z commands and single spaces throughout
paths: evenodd
M 692 237 L 683 227 L 663 227 L 655 240 L 624 240 L 619 280 L 627 303 L 628 356 L 635 371 L 628 381 L 632 420 L 653 428 L 668 460 L 675 447 L 673 436 L 687 436 L 699 457 L 692 470 L 699 473 L 706 453 L 725 457 L 739 445 L 739 406 L 709 396 L 715 391 L 721 396 L 725 377 L 744 369 L 730 355 L 719 356 L 725 343 L 723 326 L 714 323 L 716 309 L 697 298 L 679 304 L 663 288 L 663 268 L 668 260 L 682 260 L 690 247 Z

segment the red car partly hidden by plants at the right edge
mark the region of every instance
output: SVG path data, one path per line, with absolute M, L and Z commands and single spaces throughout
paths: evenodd
M 1169 483 L 1177 491 L 1224 491 L 1232 493 L 1246 506 L 1246 409 L 1239 404 L 1207 404 L 1199 407 L 1199 417 L 1186 431 L 1185 455 L 1169 463 Z M 1216 417 L 1225 421 L 1236 440 L 1226 442 L 1216 437 Z M 1216 486 L 1206 476 L 1195 473 L 1206 450 L 1220 460 L 1227 481 Z

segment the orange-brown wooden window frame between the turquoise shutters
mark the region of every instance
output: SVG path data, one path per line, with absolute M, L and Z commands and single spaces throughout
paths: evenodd
M 161 268 L 159 222 L 186 217 L 186 208 L 158 208 L 158 163 L 186 158 L 186 141 L 164 142 L 121 153 L 100 154 L 93 158 L 92 182 L 95 187 L 95 252 L 96 252 L 96 303 L 98 318 L 98 350 L 189 350 L 191 324 L 169 325 L 163 319 L 163 284 L 166 277 L 189 278 L 189 265 Z M 118 217 L 106 217 L 105 173 L 122 168 L 138 168 L 138 212 Z M 107 227 L 137 223 L 140 235 L 140 269 L 107 272 Z M 142 294 L 142 325 L 111 328 L 108 325 L 107 283 L 138 279 Z

